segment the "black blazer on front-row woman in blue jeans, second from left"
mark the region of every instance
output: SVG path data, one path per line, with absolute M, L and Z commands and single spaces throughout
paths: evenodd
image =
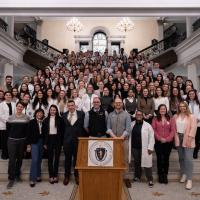
M 29 132 L 27 135 L 27 143 L 28 144 L 37 144 L 39 139 L 44 141 L 44 133 L 40 134 L 39 124 L 36 119 L 32 119 L 29 122 Z

